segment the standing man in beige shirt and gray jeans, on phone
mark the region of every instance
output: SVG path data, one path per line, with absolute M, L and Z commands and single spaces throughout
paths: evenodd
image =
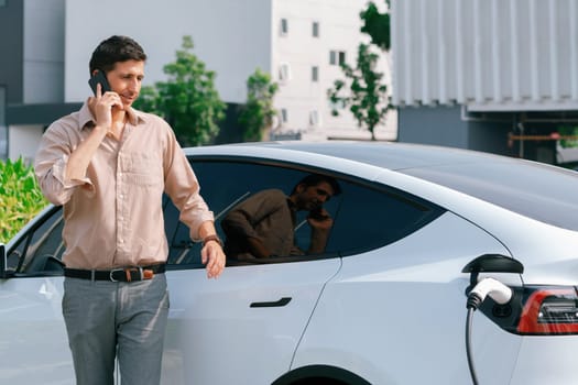
M 102 72 L 111 90 L 99 82 L 79 111 L 54 122 L 35 160 L 44 195 L 64 206 L 63 314 L 80 385 L 112 384 L 116 356 L 122 384 L 160 383 L 168 314 L 163 191 L 203 241 L 207 276 L 225 266 L 212 212 L 171 127 L 131 108 L 145 59 L 130 37 L 101 42 L 90 75 Z

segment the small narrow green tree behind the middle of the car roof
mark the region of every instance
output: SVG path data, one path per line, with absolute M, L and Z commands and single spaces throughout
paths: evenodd
M 247 79 L 247 102 L 241 108 L 239 124 L 243 128 L 246 142 L 259 142 L 271 129 L 276 110 L 273 97 L 277 91 L 276 82 L 271 82 L 271 75 L 257 68 Z

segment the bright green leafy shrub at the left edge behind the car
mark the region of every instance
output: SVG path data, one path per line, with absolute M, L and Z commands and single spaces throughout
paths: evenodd
M 0 243 L 8 242 L 46 205 L 32 166 L 22 158 L 0 161 Z

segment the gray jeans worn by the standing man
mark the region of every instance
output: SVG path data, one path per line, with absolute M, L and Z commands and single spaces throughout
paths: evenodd
M 168 316 L 166 277 L 116 283 L 65 277 L 63 315 L 77 385 L 159 385 Z

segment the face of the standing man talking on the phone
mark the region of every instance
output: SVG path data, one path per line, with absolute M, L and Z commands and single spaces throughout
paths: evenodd
M 142 61 L 118 62 L 114 68 L 107 73 L 110 88 L 120 96 L 126 108 L 139 97 L 143 78 L 144 62 Z

